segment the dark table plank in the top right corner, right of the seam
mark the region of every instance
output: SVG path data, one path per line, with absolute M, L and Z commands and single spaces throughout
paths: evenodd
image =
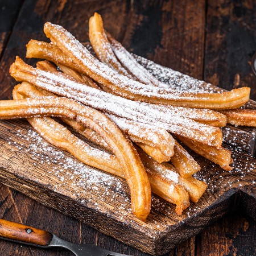
M 251 87 L 256 100 L 250 61 L 256 51 L 254 1 L 209 1 L 204 79 L 221 88 Z

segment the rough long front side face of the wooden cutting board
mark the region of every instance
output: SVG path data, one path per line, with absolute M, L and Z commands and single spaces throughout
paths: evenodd
M 126 225 L 125 233 L 123 232 L 124 223 L 115 220 L 112 217 L 99 213 L 96 210 L 86 207 L 80 201 L 71 199 L 68 196 L 61 195 L 55 192 L 52 188 L 46 184 L 35 183 L 35 181 L 23 179 L 23 184 L 19 183 L 19 176 L 8 171 L 9 167 L 0 167 L 0 181 L 10 188 L 23 193 L 24 195 L 38 201 L 39 203 L 46 205 L 49 208 L 58 210 L 59 212 L 77 218 L 84 222 L 88 226 L 92 226 L 98 231 L 112 236 L 118 241 L 126 243 L 132 247 L 135 247 L 145 253 L 154 252 L 155 238 L 146 236 L 144 233 L 135 230 L 131 225 Z M 35 193 L 36 192 L 36 193 Z M 43 195 L 43 196 L 42 196 Z M 60 200 L 56 201 L 55 198 Z M 49 203 L 51 202 L 51 203 Z M 53 204 L 54 202 L 54 204 Z M 74 209 L 76 209 L 74 211 Z M 104 218 L 104 225 L 101 225 L 101 221 Z M 144 241 L 142 241 L 142 237 Z

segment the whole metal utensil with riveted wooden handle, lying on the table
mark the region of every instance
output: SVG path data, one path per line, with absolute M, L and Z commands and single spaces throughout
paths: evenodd
M 0 238 L 12 242 L 24 243 L 41 248 L 63 247 L 72 251 L 76 256 L 129 256 L 114 253 L 95 245 L 79 245 L 67 242 L 42 229 L 26 226 L 0 219 Z

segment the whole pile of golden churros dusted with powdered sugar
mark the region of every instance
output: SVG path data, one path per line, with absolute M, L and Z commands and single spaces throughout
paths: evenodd
M 175 204 L 177 214 L 205 192 L 207 184 L 192 176 L 200 166 L 181 143 L 232 170 L 220 127 L 227 121 L 256 127 L 255 111 L 238 109 L 249 101 L 250 88 L 174 90 L 106 32 L 97 13 L 89 20 L 93 54 L 61 26 L 47 22 L 44 32 L 51 43 L 27 44 L 28 58 L 44 60 L 33 68 L 16 57 L 10 67 L 22 83 L 13 89 L 14 100 L 0 101 L 1 119 L 27 118 L 49 143 L 125 179 L 131 210 L 142 221 L 150 213 L 151 191 Z

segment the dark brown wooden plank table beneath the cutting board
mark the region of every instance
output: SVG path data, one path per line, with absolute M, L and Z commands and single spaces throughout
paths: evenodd
M 256 2 L 245 1 L 72 1 L 0 0 L 1 99 L 15 85 L 9 76 L 25 44 L 45 40 L 46 21 L 61 24 L 88 40 L 88 19 L 97 11 L 105 27 L 138 55 L 225 89 L 250 86 L 256 79 L 250 60 L 256 50 Z M 30 61 L 28 61 L 30 62 Z M 92 243 L 119 253 L 143 255 L 73 218 L 29 199 L 0 183 L 0 217 L 46 229 L 65 240 Z M 233 213 L 177 246 L 167 255 L 256 255 L 256 222 Z M 0 255 L 72 255 L 0 241 Z

